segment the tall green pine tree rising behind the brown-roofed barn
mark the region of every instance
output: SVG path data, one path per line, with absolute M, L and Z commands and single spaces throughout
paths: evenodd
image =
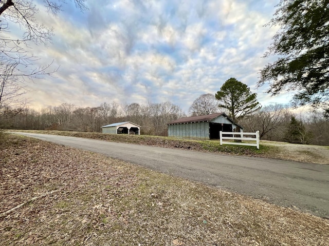
M 251 93 L 247 85 L 235 78 L 226 80 L 215 97 L 219 101 L 218 107 L 228 109 L 234 122 L 238 122 L 245 115 L 252 114 L 261 108 L 256 98 L 257 94 Z

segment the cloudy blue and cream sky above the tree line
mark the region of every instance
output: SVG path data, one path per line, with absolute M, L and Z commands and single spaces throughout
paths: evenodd
M 52 44 L 34 47 L 38 63 L 53 61 L 54 77 L 28 84 L 36 110 L 71 103 L 147 104 L 170 101 L 188 112 L 199 95 L 215 94 L 230 77 L 259 102 L 288 103 L 256 88 L 276 28 L 264 27 L 279 0 L 109 0 L 74 3 L 57 16 L 40 1 L 38 18 L 54 28 Z M 38 1 L 36 1 L 38 4 Z

